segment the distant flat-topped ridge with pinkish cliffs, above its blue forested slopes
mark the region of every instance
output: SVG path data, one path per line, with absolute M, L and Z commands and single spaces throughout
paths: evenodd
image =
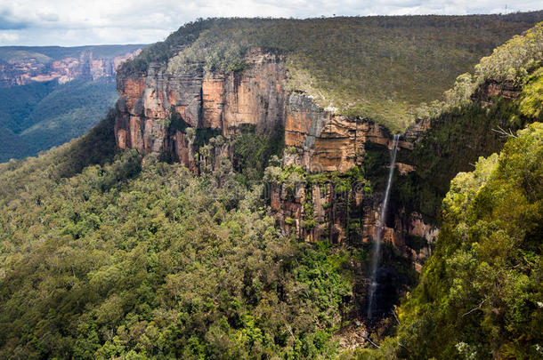
M 133 59 L 144 46 L 3 46 L 0 47 L 0 87 L 115 77 L 120 64 Z

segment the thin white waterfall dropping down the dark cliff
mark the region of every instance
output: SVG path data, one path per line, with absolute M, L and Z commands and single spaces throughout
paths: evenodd
M 381 256 L 381 236 L 383 233 L 383 226 L 385 225 L 386 207 L 388 206 L 388 196 L 390 194 L 390 188 L 393 182 L 394 164 L 396 164 L 396 150 L 398 149 L 398 139 L 400 135 L 396 134 L 393 138 L 393 149 L 390 161 L 390 170 L 388 171 L 388 181 L 386 182 L 385 198 L 381 205 L 381 216 L 377 223 L 377 234 L 373 244 L 373 256 L 371 257 L 371 284 L 369 285 L 369 300 L 368 300 L 368 319 L 371 320 L 373 316 L 374 298 L 377 290 L 377 268 L 379 265 L 379 258 Z

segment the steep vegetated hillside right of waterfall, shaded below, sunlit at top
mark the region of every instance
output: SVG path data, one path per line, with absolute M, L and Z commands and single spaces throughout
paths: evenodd
M 446 100 L 421 112 L 405 134 L 414 140 L 413 150 L 399 154 L 400 162 L 417 169 L 397 180 L 394 198 L 399 207 L 435 223 L 450 180 L 458 172 L 473 170 L 479 156 L 499 151 L 507 132 L 543 120 L 542 53 L 539 23 L 483 58 L 473 76 L 458 76 Z

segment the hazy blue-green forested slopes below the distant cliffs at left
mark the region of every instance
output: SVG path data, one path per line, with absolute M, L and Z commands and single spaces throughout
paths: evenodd
M 35 156 L 87 132 L 112 107 L 115 82 L 75 80 L 0 88 L 0 162 Z

